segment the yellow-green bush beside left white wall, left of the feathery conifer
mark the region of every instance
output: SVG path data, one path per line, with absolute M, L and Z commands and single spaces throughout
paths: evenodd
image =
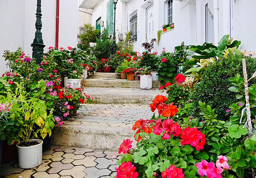
M 100 31 L 93 27 L 91 24 L 84 24 L 83 26 L 84 33 L 81 34 L 80 40 L 81 40 L 81 45 L 80 47 L 87 51 L 88 48 L 90 47 L 89 43 L 95 43 L 97 36 L 100 34 Z M 84 45 L 82 45 L 84 44 Z

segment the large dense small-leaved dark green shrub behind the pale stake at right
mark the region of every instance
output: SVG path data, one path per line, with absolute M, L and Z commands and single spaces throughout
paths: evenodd
M 229 91 L 228 88 L 233 86 L 229 78 L 235 77 L 238 73 L 243 76 L 242 69 L 243 56 L 228 56 L 221 61 L 210 63 L 202 75 L 202 80 L 197 83 L 190 95 L 193 100 L 194 108 L 199 106 L 198 101 L 209 104 L 216 109 L 217 119 L 229 120 L 230 114 L 226 112 L 229 105 L 236 103 L 236 93 Z M 247 75 L 252 76 L 255 71 L 255 59 L 246 57 Z M 255 83 L 252 80 L 252 83 Z M 194 115 L 199 116 L 199 110 L 194 111 Z

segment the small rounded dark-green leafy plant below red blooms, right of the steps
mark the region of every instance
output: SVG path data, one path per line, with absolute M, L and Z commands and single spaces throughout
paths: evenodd
M 168 86 L 166 89 L 168 94 L 167 103 L 174 103 L 176 107 L 181 107 L 184 102 L 188 101 L 189 91 L 187 88 L 183 89 L 182 86 L 178 86 L 176 83 Z

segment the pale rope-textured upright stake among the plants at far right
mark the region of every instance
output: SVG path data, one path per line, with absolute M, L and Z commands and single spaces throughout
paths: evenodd
M 245 122 L 245 127 L 248 129 L 249 137 L 253 136 L 254 129 L 252 128 L 252 122 L 251 122 L 251 112 L 250 112 L 250 103 L 249 103 L 249 91 L 248 91 L 248 81 L 247 81 L 247 72 L 246 72 L 246 62 L 245 59 L 242 60 L 243 62 L 243 73 L 244 73 L 244 82 L 245 82 L 245 100 L 246 100 L 246 114 L 247 114 L 247 120 Z M 241 120 L 240 120 L 241 123 Z

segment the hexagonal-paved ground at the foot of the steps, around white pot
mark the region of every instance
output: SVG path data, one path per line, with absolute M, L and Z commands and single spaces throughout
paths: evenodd
M 43 163 L 22 169 L 17 162 L 4 165 L 6 178 L 113 178 L 117 152 L 93 151 L 84 148 L 54 147 L 43 153 Z

